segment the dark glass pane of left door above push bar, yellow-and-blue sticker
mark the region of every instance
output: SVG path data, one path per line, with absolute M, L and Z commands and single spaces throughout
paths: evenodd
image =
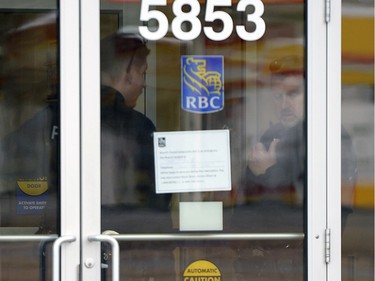
M 19 234 L 56 233 L 56 12 L 0 10 L 0 26 L 0 226 L 18 227 Z

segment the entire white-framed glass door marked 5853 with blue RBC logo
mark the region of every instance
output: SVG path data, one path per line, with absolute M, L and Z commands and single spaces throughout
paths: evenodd
M 323 280 L 324 71 L 314 102 L 306 78 L 326 41 L 307 41 L 307 4 L 84 3 L 84 278 Z

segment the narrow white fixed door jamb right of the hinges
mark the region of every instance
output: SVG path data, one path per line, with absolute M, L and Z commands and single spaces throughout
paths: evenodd
M 341 280 L 341 1 L 330 4 L 327 24 L 327 227 L 331 230 L 328 280 Z

